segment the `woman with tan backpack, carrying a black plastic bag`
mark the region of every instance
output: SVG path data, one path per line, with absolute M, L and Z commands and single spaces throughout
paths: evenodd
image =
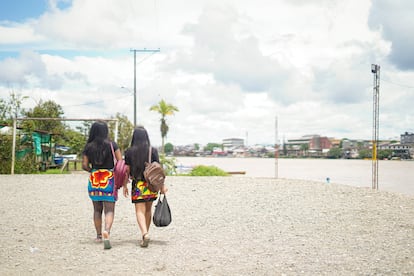
M 132 179 L 131 201 L 135 204 L 135 215 L 142 240 L 141 247 L 147 247 L 149 243 L 149 227 L 151 225 L 152 203 L 157 199 L 158 193 L 148 189 L 144 178 L 145 162 L 148 162 L 149 149 L 151 147 L 147 130 L 138 126 L 132 135 L 131 147 L 125 151 L 125 164 L 129 166 L 130 178 Z M 158 151 L 151 147 L 151 162 L 160 162 Z M 165 185 L 162 194 L 167 192 Z M 124 195 L 128 196 L 128 189 L 124 189 Z

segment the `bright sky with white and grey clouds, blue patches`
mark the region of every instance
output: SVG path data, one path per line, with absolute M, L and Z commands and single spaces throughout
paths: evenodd
M 0 96 L 60 104 L 67 118 L 134 118 L 174 145 L 305 134 L 380 139 L 414 132 L 410 0 L 1 0 Z M 123 88 L 122 88 L 123 87 Z

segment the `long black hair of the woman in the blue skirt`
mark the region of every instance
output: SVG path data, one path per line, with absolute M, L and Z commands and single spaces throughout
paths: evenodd
M 91 153 L 91 163 L 102 165 L 108 156 L 112 155 L 108 139 L 108 125 L 103 121 L 97 121 L 92 124 L 89 131 L 88 142 L 85 149 Z

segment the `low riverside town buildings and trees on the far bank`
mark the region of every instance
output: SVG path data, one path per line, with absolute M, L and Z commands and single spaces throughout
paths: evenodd
M 400 141 L 380 141 L 378 158 L 412 159 L 414 156 L 414 133 L 401 134 Z M 167 151 L 167 149 L 169 149 Z M 198 144 L 168 147 L 166 152 L 173 156 L 213 156 L 213 157 L 275 157 L 274 145 L 245 145 L 240 138 L 223 139 L 222 144 L 208 144 L 201 148 Z M 288 139 L 278 147 L 280 158 L 346 158 L 369 159 L 372 155 L 372 142 L 368 140 L 335 139 L 321 135 L 304 135 Z

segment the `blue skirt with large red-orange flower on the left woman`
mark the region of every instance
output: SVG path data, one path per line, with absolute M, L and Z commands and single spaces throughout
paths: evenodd
M 115 202 L 118 199 L 118 193 L 114 186 L 112 170 L 94 169 L 91 171 L 88 181 L 88 194 L 93 201 Z

